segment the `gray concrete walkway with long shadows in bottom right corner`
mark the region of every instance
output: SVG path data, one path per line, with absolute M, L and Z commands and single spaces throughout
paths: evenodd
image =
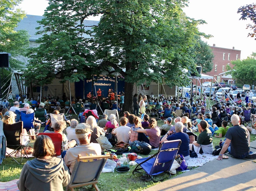
M 256 141 L 251 142 L 256 151 Z M 167 181 L 145 189 L 156 190 L 255 190 L 256 160 L 229 157 L 213 160 L 202 167 L 190 170 Z

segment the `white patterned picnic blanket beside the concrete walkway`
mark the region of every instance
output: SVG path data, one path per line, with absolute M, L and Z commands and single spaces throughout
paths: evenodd
M 190 158 L 189 160 L 187 160 L 188 166 L 202 166 L 205 163 L 218 158 L 218 156 L 213 156 L 212 154 L 197 154 L 197 156 L 197 158 Z

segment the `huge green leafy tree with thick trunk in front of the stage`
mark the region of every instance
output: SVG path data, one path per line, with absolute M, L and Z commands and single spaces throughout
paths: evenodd
M 125 80 L 125 108 L 132 106 L 133 84 L 165 78 L 169 86 L 188 82 L 183 68 L 195 71 L 193 48 L 200 43 L 195 21 L 184 16 L 186 0 L 50 0 L 38 33 L 41 45 L 30 52 L 27 78 L 50 83 L 79 81 L 119 72 Z M 97 25 L 89 16 L 103 14 Z M 85 27 L 92 27 L 93 31 Z M 47 34 L 45 34 L 47 33 Z M 203 34 L 204 35 L 204 34 Z M 114 70 L 111 70 L 112 67 Z M 38 73 L 32 71 L 37 69 Z

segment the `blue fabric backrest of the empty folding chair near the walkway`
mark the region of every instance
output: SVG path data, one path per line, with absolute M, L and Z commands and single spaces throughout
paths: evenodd
M 178 153 L 181 140 L 164 141 L 156 154 L 155 161 L 149 175 L 169 171 L 176 154 Z

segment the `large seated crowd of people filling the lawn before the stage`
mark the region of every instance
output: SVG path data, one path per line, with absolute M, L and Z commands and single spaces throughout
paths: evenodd
M 58 102 L 60 100 L 64 102 L 62 98 L 58 99 Z M 42 103 L 35 99 L 33 101 L 30 103 L 26 99 L 24 99 L 24 103 L 15 101 L 13 106 L 8 108 L 9 111 L 7 108 L 0 109 L 3 113 L 3 119 L 0 120 L 1 141 L 5 137 L 3 134 L 4 125 L 15 123 L 16 110 L 26 111 L 28 114 L 33 113 L 37 108 L 44 108 L 45 104 L 56 103 L 56 108 L 59 106 L 55 99 L 51 99 L 50 102 L 46 99 Z M 65 102 L 67 101 L 69 100 L 67 99 Z M 108 100 L 102 101 L 104 102 L 100 101 L 100 105 L 107 103 Z M 249 101 L 250 96 L 248 97 Z M 197 99 L 190 104 L 186 98 L 182 97 L 161 97 L 156 100 L 145 95 L 139 95 L 138 98 L 138 95 L 135 94 L 133 97 L 133 114 L 124 111 L 123 117 L 120 118 L 120 124 L 114 114 L 110 116 L 103 114 L 102 119 L 98 122 L 94 116 L 87 117 L 86 123 L 79 123 L 77 119 L 72 119 L 69 122 L 69 127 L 67 127 L 67 122 L 56 122 L 51 127 L 53 131 L 48 129 L 45 130 L 45 133 L 61 134 L 66 150 L 57 158 L 51 139 L 46 135 L 38 136 L 34 143 L 33 156 L 35 159 L 28 161 L 24 165 L 20 179 L 17 182 L 18 187 L 20 190 L 28 190 L 32 189 L 36 184 L 45 186 L 49 190 L 61 190 L 62 186 L 67 186 L 70 181 L 70 174 L 73 172 L 78 154 L 82 156 L 102 154 L 102 148 L 97 139 L 106 134 L 112 134 L 118 143 L 123 142 L 124 144 L 132 145 L 134 141 L 142 141 L 150 145 L 151 148 L 158 148 L 164 141 L 180 139 L 182 143 L 178 154 L 183 155 L 185 160 L 190 159 L 190 151 L 200 154 L 212 154 L 214 151 L 213 137 L 225 137 L 224 141 L 221 142 L 223 146 L 218 160 L 222 160 L 222 156 L 227 151 L 236 158 L 255 159 L 256 153 L 250 151 L 250 133 L 256 134 L 256 115 L 254 115 L 256 103 L 252 103 L 252 108 L 250 108 L 250 102 L 248 106 L 241 107 L 239 106 L 240 104 L 237 106 L 236 102 L 231 100 L 223 100 L 222 102 L 216 102 L 212 110 L 207 110 L 206 102 L 205 97 L 201 100 Z M 31 108 L 33 103 L 36 104 L 34 109 Z M 73 99 L 71 102 L 71 104 L 76 103 L 81 103 L 83 107 L 82 114 L 86 108 L 91 107 L 90 100 Z M 20 107 L 20 104 L 23 107 Z M 173 111 L 182 110 L 183 115 L 170 116 L 165 119 L 163 125 L 158 126 L 156 118 L 146 114 L 146 105 L 155 105 L 156 112 L 163 111 L 164 108 L 172 109 Z M 8 106 L 10 105 L 7 104 Z M 111 103 L 110 108 L 111 106 L 115 109 L 120 107 L 116 102 Z M 188 110 L 191 113 L 186 113 Z M 244 113 L 248 110 L 251 111 L 253 121 L 251 127 L 243 125 Z M 54 111 L 54 114 L 58 113 L 58 110 Z M 46 110 L 44 114 L 45 116 L 47 115 Z M 143 117 L 141 117 L 141 114 L 144 114 Z M 217 123 L 216 118 L 218 118 Z M 49 120 L 46 121 L 46 125 L 49 123 Z M 64 129 L 66 129 L 66 134 L 63 133 Z M 27 145 L 29 136 L 27 131 L 23 130 L 23 143 Z M 190 140 L 189 135 L 192 132 L 199 133 L 197 140 Z M 4 150 L 4 148 L 1 147 L 1 150 Z M 5 156 L 0 155 L 1 163 L 4 158 Z

